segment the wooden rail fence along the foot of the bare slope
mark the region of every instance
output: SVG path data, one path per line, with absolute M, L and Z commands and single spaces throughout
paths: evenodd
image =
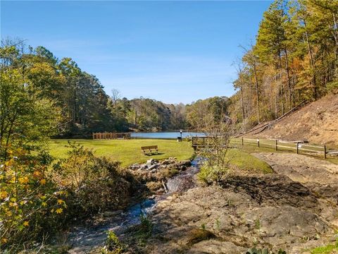
M 252 138 L 232 138 L 230 140 L 230 143 L 235 145 L 253 145 L 256 147 L 265 147 L 265 148 L 271 148 L 273 150 L 283 150 L 283 151 L 292 151 L 299 153 L 306 153 L 310 155 L 320 155 L 326 159 L 327 155 L 334 155 L 337 153 L 337 151 L 331 151 L 327 149 L 326 145 L 320 146 L 320 145 L 309 145 L 307 143 L 301 143 L 301 142 L 287 142 L 287 141 L 280 141 L 280 140 L 260 140 L 252 139 Z

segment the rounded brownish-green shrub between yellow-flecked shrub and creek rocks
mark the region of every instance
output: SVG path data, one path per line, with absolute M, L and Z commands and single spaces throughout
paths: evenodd
M 68 158 L 54 164 L 54 179 L 68 193 L 68 215 L 86 217 L 120 209 L 137 193 L 137 181 L 120 162 L 95 157 L 92 150 L 70 144 Z

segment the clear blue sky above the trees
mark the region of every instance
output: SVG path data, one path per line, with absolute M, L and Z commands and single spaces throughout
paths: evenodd
M 108 95 L 190 103 L 234 93 L 239 44 L 271 1 L 1 1 L 1 38 L 20 37 L 96 75 Z

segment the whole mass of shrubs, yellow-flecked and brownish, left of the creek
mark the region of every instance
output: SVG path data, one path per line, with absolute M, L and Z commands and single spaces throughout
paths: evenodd
M 45 152 L 7 151 L 0 162 L 1 250 L 32 249 L 35 241 L 48 240 L 71 220 L 121 209 L 141 193 L 119 162 L 70 146 L 68 158 L 54 165 Z

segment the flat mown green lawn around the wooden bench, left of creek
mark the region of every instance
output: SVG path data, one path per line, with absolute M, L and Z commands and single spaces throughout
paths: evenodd
M 147 159 L 165 159 L 176 157 L 179 160 L 189 159 L 194 155 L 192 144 L 189 142 L 177 142 L 176 140 L 82 140 L 70 139 L 84 147 L 95 151 L 96 155 L 111 157 L 122 162 L 122 166 L 133 163 L 143 163 Z M 56 158 L 67 156 L 68 140 L 51 140 L 49 144 L 51 155 Z M 141 147 L 147 145 L 158 145 L 158 155 L 143 155 Z

